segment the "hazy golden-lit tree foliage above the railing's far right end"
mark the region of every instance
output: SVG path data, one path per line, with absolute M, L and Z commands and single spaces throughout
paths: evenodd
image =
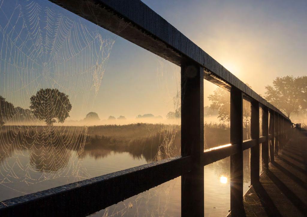
M 294 78 L 293 76 L 277 77 L 273 85 L 266 88 L 266 100 L 286 113 L 299 113 L 307 108 L 307 76 Z

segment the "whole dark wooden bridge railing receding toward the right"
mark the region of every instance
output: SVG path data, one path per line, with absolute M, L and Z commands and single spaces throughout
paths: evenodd
M 181 67 L 181 156 L 63 185 L 0 203 L 0 216 L 85 216 L 181 176 L 181 215 L 204 215 L 204 166 L 230 156 L 231 214 L 243 207 L 243 150 L 251 184 L 289 138 L 291 121 L 139 0 L 52 0 Z M 184 16 L 184 15 L 183 15 Z M 231 145 L 204 152 L 204 79 L 230 91 Z M 243 99 L 251 102 L 251 139 L 243 141 Z M 263 110 L 259 136 L 259 107 Z M 259 144 L 262 143 L 262 156 Z

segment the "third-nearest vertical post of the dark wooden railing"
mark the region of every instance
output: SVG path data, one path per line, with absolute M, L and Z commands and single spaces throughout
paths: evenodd
M 259 103 L 251 102 L 251 139 L 256 145 L 251 147 L 251 185 L 259 182 Z

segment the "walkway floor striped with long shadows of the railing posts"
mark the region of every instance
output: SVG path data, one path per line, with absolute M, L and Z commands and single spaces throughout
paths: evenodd
M 245 194 L 246 216 L 307 216 L 307 132 L 293 134 Z

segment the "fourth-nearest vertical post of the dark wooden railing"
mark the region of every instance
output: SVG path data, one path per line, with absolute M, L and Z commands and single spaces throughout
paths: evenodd
M 266 141 L 262 143 L 262 170 L 266 173 L 269 168 L 269 110 L 268 107 L 262 108 L 262 136 L 266 136 Z

